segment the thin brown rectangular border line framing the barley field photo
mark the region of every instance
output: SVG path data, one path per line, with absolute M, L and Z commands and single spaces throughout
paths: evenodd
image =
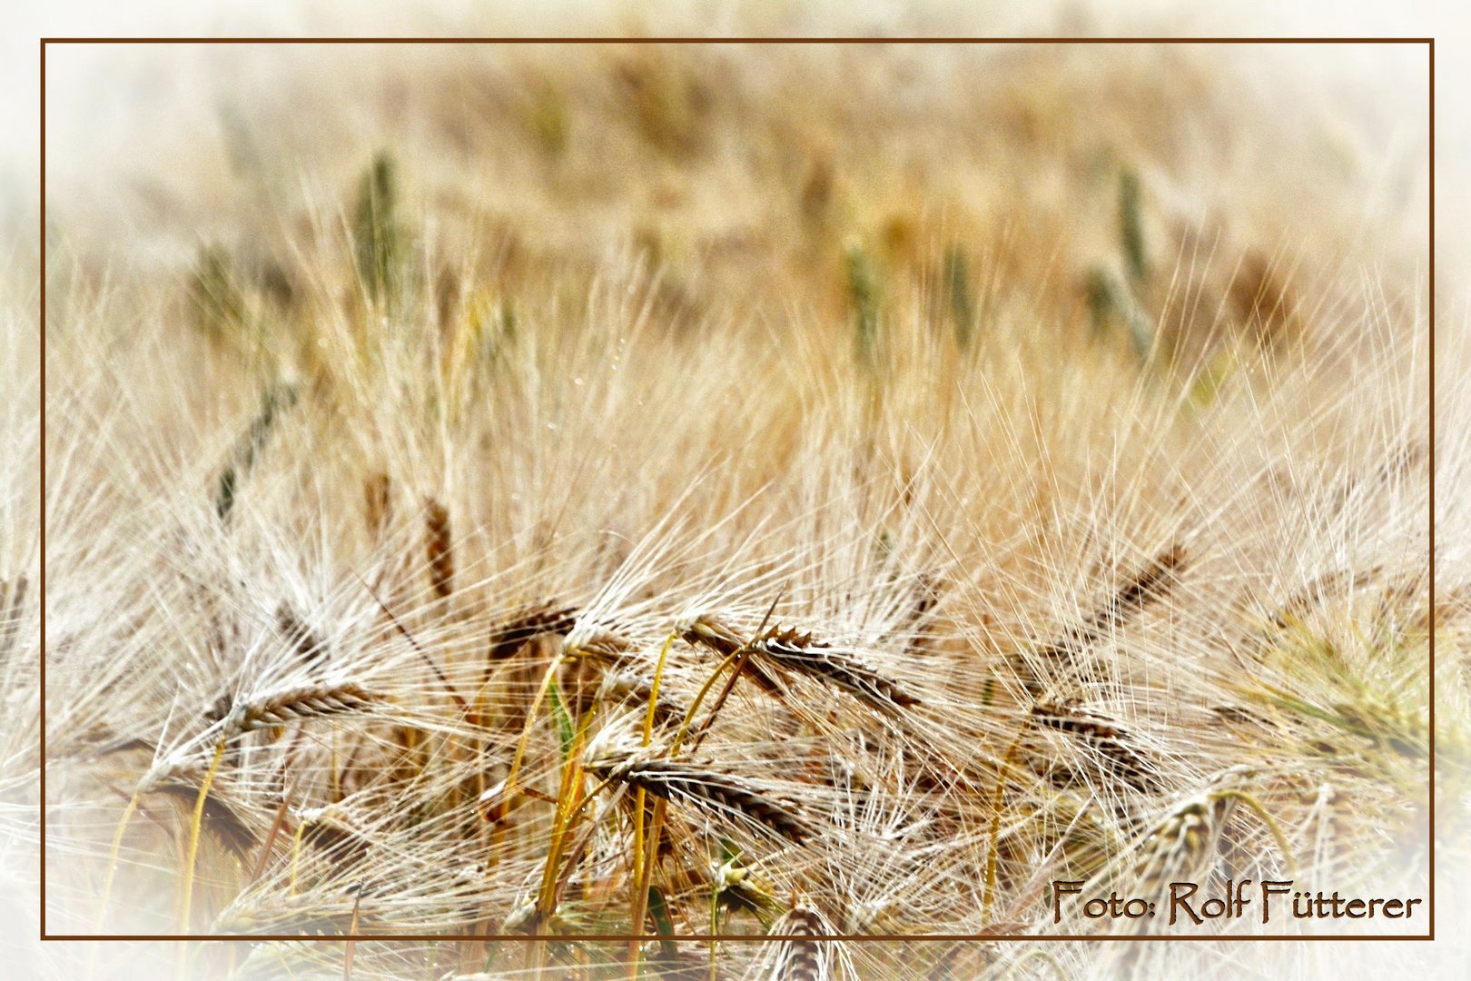
M 1430 609 L 1436 606 L 1436 38 L 1434 37 L 43 37 L 41 46 L 41 260 L 40 260 L 40 347 L 41 347 L 41 584 L 40 584 L 40 619 L 41 619 L 41 732 L 40 732 L 40 940 L 41 941 L 438 941 L 438 943 L 480 943 L 480 941 L 562 941 L 562 943 L 613 943 L 613 941 L 781 941 L 797 940 L 799 937 L 781 935 L 750 935 L 750 934 L 674 934 L 674 935 L 643 935 L 643 934 L 49 934 L 46 931 L 46 46 L 47 44 L 1424 44 L 1428 56 L 1430 72 L 1430 222 L 1428 222 L 1428 328 L 1430 328 L 1430 416 L 1428 416 L 1428 446 L 1430 446 Z M 1403 934 L 828 934 L 803 935 L 802 940 L 844 940 L 844 941 L 1053 941 L 1053 940 L 1084 940 L 1084 941 L 1434 941 L 1436 938 L 1436 631 L 1431 625 L 1428 635 L 1430 666 L 1428 666 L 1428 699 L 1430 699 L 1430 768 L 1428 768 L 1428 799 L 1430 822 L 1427 828 L 1430 881 L 1427 896 L 1427 913 L 1430 927 L 1421 935 Z

